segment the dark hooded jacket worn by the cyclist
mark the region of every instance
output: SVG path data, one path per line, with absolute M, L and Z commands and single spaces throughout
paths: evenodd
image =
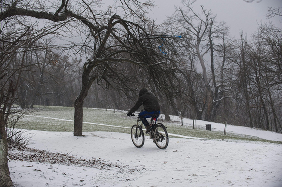
M 160 111 L 160 106 L 156 96 L 153 93 L 148 92 L 145 88 L 140 90 L 139 99 L 134 107 L 130 109 L 130 111 L 135 112 L 141 105 L 143 105 L 144 110 L 148 112 Z

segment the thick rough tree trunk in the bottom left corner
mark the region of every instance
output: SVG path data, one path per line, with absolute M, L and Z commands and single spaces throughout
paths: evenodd
M 8 146 L 5 131 L 5 121 L 2 110 L 0 110 L 0 187 L 13 186 L 8 168 Z

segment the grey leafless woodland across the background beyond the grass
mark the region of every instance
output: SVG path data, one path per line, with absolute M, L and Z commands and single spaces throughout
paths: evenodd
M 157 26 L 144 12 L 150 3 L 116 4 L 121 18 L 96 1 L 1 2 L 1 109 L 127 110 L 146 87 L 167 119 L 281 132 L 281 28 L 265 23 L 234 39 L 212 10 L 191 5 Z

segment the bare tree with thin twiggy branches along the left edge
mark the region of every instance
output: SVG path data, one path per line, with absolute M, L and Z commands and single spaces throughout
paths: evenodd
M 49 30 L 50 28 L 37 29 L 36 25 L 25 25 L 20 19 L 11 19 L 5 16 L 5 12 L 9 9 L 7 2 L 0 3 L 0 136 L 1 139 L 1 185 L 12 185 L 9 177 L 9 170 L 7 165 L 7 134 L 6 127 L 9 123 L 14 123 L 9 120 L 14 113 L 21 111 L 12 108 L 17 101 L 17 89 L 21 83 L 22 73 L 27 67 L 26 56 L 29 54 L 34 44 L 42 37 L 54 32 L 57 28 Z M 14 2 L 13 5 L 16 5 Z M 12 133 L 15 135 L 15 133 Z M 12 137 L 9 137 L 12 138 Z M 3 170 L 4 169 L 4 170 Z

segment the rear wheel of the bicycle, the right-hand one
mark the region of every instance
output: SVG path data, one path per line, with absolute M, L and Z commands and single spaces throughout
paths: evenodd
M 154 142 L 155 142 L 156 146 L 160 149 L 167 148 L 167 146 L 168 146 L 168 134 L 167 134 L 166 127 L 163 124 L 158 123 L 154 132 L 155 132 Z

